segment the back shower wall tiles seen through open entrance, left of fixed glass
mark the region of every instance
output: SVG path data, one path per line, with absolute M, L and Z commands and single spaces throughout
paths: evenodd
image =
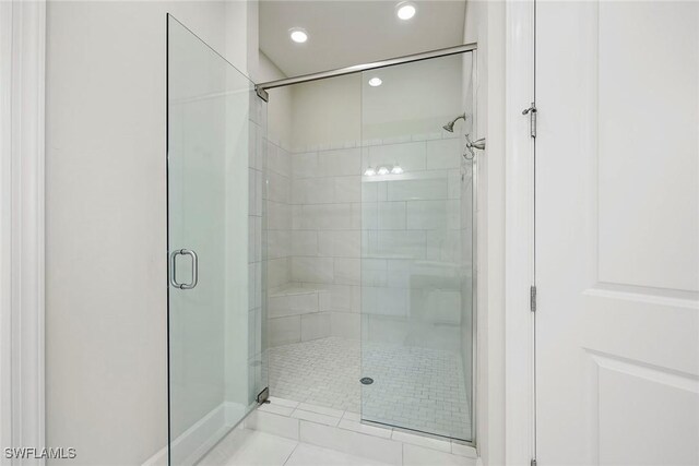
M 319 290 L 309 338 L 359 337 L 360 164 L 358 147 L 293 155 L 292 280 Z

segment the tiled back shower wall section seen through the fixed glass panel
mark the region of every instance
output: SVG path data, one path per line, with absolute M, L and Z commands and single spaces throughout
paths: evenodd
M 364 166 L 403 175 L 363 182 L 362 312 L 366 339 L 460 347 L 461 141 L 452 133 L 370 146 Z

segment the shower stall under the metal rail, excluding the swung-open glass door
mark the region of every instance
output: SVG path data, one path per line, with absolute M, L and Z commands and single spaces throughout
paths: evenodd
M 466 48 L 258 85 L 294 116 L 266 167 L 272 395 L 474 442 Z

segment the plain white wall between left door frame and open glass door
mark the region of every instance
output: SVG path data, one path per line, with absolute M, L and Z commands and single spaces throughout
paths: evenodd
M 244 2 L 49 2 L 47 445 L 139 464 L 166 444 L 166 12 L 246 69 Z

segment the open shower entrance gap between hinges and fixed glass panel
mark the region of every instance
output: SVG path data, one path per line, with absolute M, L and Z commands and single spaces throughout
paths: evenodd
M 270 392 L 359 413 L 360 74 L 270 91 Z M 293 127 L 292 127 L 293 121 Z

